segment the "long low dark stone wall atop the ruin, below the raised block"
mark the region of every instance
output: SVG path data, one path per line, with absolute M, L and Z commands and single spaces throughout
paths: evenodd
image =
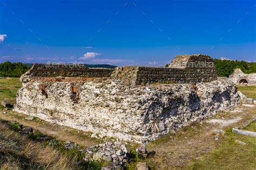
M 114 70 L 112 77 L 122 78 L 126 84 L 190 83 L 217 80 L 215 69 L 124 66 Z

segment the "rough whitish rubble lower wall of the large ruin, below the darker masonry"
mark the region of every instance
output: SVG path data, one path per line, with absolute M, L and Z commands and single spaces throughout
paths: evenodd
M 242 97 L 228 80 L 198 83 L 197 87 L 198 91 L 191 84 L 132 87 L 124 86 L 123 79 L 31 80 L 19 89 L 15 110 L 101 137 L 143 142 L 226 111 Z

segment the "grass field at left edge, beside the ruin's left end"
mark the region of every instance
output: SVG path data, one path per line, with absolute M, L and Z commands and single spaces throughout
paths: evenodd
M 16 103 L 16 94 L 22 83 L 19 78 L 0 79 L 0 101 L 6 100 L 11 104 Z

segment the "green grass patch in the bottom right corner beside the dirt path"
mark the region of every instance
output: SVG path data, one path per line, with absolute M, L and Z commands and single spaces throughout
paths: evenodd
M 256 121 L 244 130 L 255 131 Z M 231 129 L 226 133 L 216 150 L 194 160 L 187 169 L 256 169 L 256 138 L 231 133 Z M 243 141 L 246 145 L 238 144 L 235 140 Z

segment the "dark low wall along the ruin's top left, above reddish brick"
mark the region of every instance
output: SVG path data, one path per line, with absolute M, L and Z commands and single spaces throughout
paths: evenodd
M 31 77 L 110 77 L 114 69 L 87 68 L 85 65 L 35 63 L 29 70 Z

